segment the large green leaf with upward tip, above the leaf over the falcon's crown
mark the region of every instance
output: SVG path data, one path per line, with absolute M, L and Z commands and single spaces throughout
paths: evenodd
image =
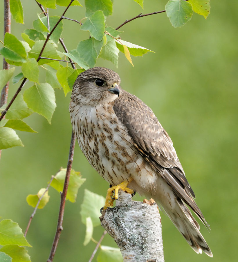
M 101 10 L 96 11 L 84 21 L 81 30 L 89 31 L 90 35 L 97 39 L 102 40 L 105 31 L 105 17 Z

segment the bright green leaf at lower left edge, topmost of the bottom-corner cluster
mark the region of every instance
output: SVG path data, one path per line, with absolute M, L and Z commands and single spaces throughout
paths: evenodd
M 19 225 L 11 219 L 4 219 L 0 222 L 0 245 L 31 247 L 31 245 L 26 241 Z

